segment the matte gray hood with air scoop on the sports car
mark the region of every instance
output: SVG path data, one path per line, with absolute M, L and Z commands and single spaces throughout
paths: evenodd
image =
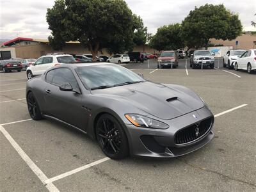
M 149 115 L 165 120 L 190 113 L 204 107 L 204 102 L 191 90 L 174 84 L 152 82 L 128 84 L 102 90 L 92 94 L 126 102 Z M 131 111 L 134 113 L 134 111 Z

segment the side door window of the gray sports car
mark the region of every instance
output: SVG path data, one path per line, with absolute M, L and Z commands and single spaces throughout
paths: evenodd
M 64 83 L 70 83 L 72 88 L 77 88 L 76 77 L 68 68 L 56 68 L 52 83 L 61 86 Z

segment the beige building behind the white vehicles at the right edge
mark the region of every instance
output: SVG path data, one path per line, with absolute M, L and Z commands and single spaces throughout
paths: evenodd
M 215 45 L 223 44 L 224 46 L 232 46 L 233 49 L 256 49 L 256 35 L 243 34 L 231 41 L 216 40 L 214 38 L 210 39 L 210 41 Z M 238 43 L 237 45 L 236 42 Z

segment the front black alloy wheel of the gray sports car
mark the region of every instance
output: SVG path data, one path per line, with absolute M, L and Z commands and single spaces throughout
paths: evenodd
M 127 137 L 119 122 L 111 115 L 100 116 L 96 125 L 100 148 L 111 159 L 123 159 L 129 154 Z

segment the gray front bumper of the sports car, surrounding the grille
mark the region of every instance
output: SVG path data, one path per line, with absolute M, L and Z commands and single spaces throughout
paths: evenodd
M 197 119 L 193 117 L 196 115 Z M 176 144 L 175 136 L 177 132 L 185 127 L 189 127 L 196 122 L 201 122 L 207 118 L 212 118 L 212 123 L 204 135 L 196 140 L 189 141 L 188 143 Z M 128 138 L 130 153 L 132 156 L 141 157 L 178 157 L 188 154 L 204 147 L 209 143 L 214 134 L 212 126 L 214 117 L 208 108 L 204 107 L 193 111 L 183 116 L 173 118 L 172 120 L 162 120 L 168 124 L 168 129 L 147 129 L 135 127 L 134 125 L 127 124 Z

